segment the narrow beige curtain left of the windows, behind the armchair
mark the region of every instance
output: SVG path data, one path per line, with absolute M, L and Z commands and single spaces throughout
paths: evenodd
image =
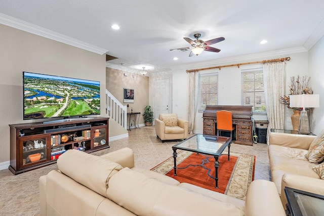
M 187 116 L 189 121 L 188 132 L 192 134 L 194 119 L 197 113 L 197 82 L 198 82 L 198 71 L 188 72 L 188 110 Z

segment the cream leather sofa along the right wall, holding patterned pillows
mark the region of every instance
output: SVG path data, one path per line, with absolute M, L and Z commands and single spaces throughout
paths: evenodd
M 271 179 L 286 207 L 284 188 L 291 187 L 324 195 L 324 181 L 313 171 L 318 164 L 305 158 L 316 136 L 271 132 L 269 135 L 269 161 Z

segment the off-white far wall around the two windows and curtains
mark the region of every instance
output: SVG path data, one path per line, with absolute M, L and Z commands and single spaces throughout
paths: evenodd
M 286 64 L 286 94 L 288 94 L 288 82 L 291 76 L 304 76 L 308 74 L 308 52 L 299 52 L 293 53 L 290 55 L 285 56 L 273 56 L 273 57 L 258 57 L 256 55 L 256 59 L 251 60 L 254 61 L 262 61 L 266 59 L 278 59 L 284 57 L 291 57 L 290 61 L 287 61 Z M 245 61 L 250 62 L 250 61 Z M 237 64 L 242 62 L 230 62 L 230 64 Z M 222 64 L 222 65 L 227 65 Z M 218 66 L 218 65 L 215 65 Z M 212 66 L 209 66 L 212 67 Z M 254 69 L 260 68 L 262 64 L 254 64 L 254 65 L 245 65 L 237 67 L 228 67 L 222 68 L 221 70 L 214 69 L 214 70 L 207 70 L 201 73 L 213 73 L 218 72 L 219 75 L 219 104 L 222 105 L 240 105 L 241 104 L 241 70 L 244 69 Z M 203 68 L 203 67 L 200 67 Z M 194 68 L 188 68 L 194 69 Z M 312 80 L 313 78 L 311 78 Z M 184 87 L 185 86 L 185 87 Z M 180 96 L 181 95 L 181 96 Z M 187 116 L 187 74 L 185 70 L 178 70 L 173 72 L 173 104 L 177 104 L 177 106 L 173 106 L 173 112 L 177 113 L 178 116 Z M 285 110 L 285 129 L 291 130 L 292 123 L 291 123 L 291 115 L 293 112 L 289 109 Z M 195 117 L 195 125 L 194 125 L 194 132 L 195 133 L 203 133 L 203 113 L 196 114 Z M 254 115 L 253 118 L 255 120 L 267 120 L 266 115 Z

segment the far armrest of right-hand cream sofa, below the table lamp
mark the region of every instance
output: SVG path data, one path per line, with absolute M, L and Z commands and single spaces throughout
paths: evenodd
M 308 150 L 310 143 L 312 143 L 315 138 L 316 136 L 271 132 L 269 136 L 269 145 L 275 144 Z

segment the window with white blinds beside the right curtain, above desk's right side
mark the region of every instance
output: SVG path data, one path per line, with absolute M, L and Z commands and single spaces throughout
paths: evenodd
M 252 111 L 265 113 L 265 94 L 262 68 L 241 72 L 241 104 L 253 105 Z

